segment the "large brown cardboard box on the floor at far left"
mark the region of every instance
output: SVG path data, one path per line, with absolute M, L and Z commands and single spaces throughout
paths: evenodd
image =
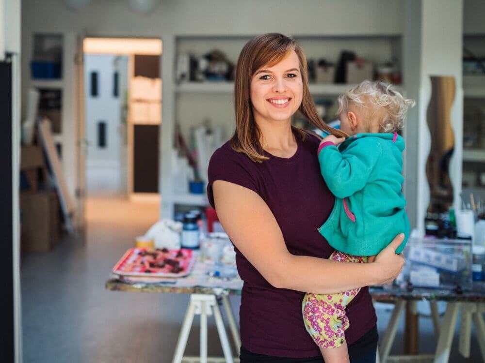
M 59 201 L 53 191 L 20 193 L 22 253 L 52 250 L 60 240 Z

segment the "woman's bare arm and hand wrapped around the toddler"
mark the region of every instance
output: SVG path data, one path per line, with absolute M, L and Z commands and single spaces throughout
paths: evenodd
M 227 181 L 214 181 L 217 216 L 234 245 L 274 287 L 331 294 L 394 280 L 404 257 L 396 237 L 373 263 L 360 264 L 294 256 L 284 242 L 276 219 L 258 194 Z

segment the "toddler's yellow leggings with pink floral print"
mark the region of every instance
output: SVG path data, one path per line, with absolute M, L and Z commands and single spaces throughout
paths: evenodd
M 352 256 L 334 251 L 328 259 L 344 262 L 366 263 L 365 256 Z M 302 312 L 307 332 L 320 348 L 337 348 L 345 343 L 345 330 L 349 319 L 345 307 L 359 293 L 360 288 L 332 295 L 307 293 L 303 299 Z

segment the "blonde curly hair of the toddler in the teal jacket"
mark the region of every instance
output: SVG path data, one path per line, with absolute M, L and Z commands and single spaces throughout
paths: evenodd
M 378 121 L 382 133 L 401 130 L 407 109 L 415 105 L 414 100 L 404 98 L 391 84 L 381 81 L 363 81 L 341 94 L 338 102 L 338 115 L 355 106 L 364 114 L 367 126 Z

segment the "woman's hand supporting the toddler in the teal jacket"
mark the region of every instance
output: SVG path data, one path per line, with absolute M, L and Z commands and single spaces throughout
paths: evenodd
M 391 283 L 403 269 L 404 257 L 396 255 L 396 249 L 403 241 L 404 233 L 401 233 L 375 257 L 372 264 L 376 267 L 376 285 Z

